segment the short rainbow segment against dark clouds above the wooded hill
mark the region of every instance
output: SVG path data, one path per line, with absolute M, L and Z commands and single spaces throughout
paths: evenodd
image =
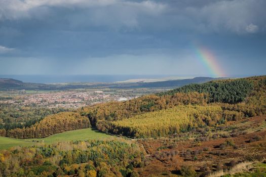
M 208 69 L 209 73 L 213 77 L 225 77 L 225 73 L 222 71 L 214 55 L 204 47 L 196 48 L 197 58 Z

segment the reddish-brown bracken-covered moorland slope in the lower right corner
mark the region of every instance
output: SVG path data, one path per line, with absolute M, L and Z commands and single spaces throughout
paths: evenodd
M 139 139 L 150 160 L 140 176 L 265 176 L 265 118 L 256 116 L 170 137 Z M 264 167 L 257 168 L 258 164 Z

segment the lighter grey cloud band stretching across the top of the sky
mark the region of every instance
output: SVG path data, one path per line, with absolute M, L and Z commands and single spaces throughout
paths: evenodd
M 124 31 L 189 29 L 238 34 L 266 23 L 264 0 L 126 1 L 0 0 L 0 21 L 37 19 L 66 28 L 106 27 Z M 60 14 L 61 13 L 61 14 Z M 258 18 L 259 17 L 259 18 Z M 60 19 L 58 19 L 60 18 Z M 53 20 L 56 20 L 54 21 Z M 252 26 L 255 25 L 256 27 Z M 251 26 L 249 26 L 251 25 Z M 252 28 L 252 29 L 251 29 Z M 252 31 L 252 32 L 251 32 Z

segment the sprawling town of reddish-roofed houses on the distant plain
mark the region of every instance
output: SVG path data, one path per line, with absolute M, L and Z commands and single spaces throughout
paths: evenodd
M 13 94 L 12 94 L 13 93 Z M 132 92 L 117 92 L 117 90 L 70 90 L 55 92 L 12 91 L 6 92 L 6 98 L 0 100 L 0 104 L 12 104 L 17 106 L 39 106 L 46 108 L 80 108 L 86 105 L 108 101 L 126 101 L 137 98 L 139 94 Z M 0 94 L 5 96 L 5 94 Z

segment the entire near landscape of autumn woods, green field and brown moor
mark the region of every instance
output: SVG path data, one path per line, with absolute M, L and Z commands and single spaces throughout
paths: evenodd
M 0 174 L 263 176 L 265 91 L 266 76 L 255 76 L 71 109 L 39 105 L 17 117 L 16 107 L 8 114 L 6 106 Z M 29 115 L 39 118 L 25 123 Z M 6 126 L 7 120 L 17 124 Z

